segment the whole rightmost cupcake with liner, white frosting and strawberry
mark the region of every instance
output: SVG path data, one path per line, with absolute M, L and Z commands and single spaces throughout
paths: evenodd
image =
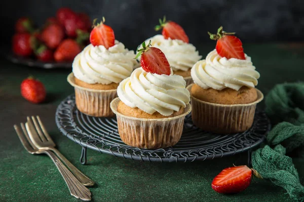
M 263 99 L 255 88 L 260 74 L 234 33 L 220 27 L 210 38 L 217 40 L 216 49 L 194 65 L 194 84 L 187 88 L 193 122 L 211 132 L 243 132 L 252 126 L 256 104 Z

